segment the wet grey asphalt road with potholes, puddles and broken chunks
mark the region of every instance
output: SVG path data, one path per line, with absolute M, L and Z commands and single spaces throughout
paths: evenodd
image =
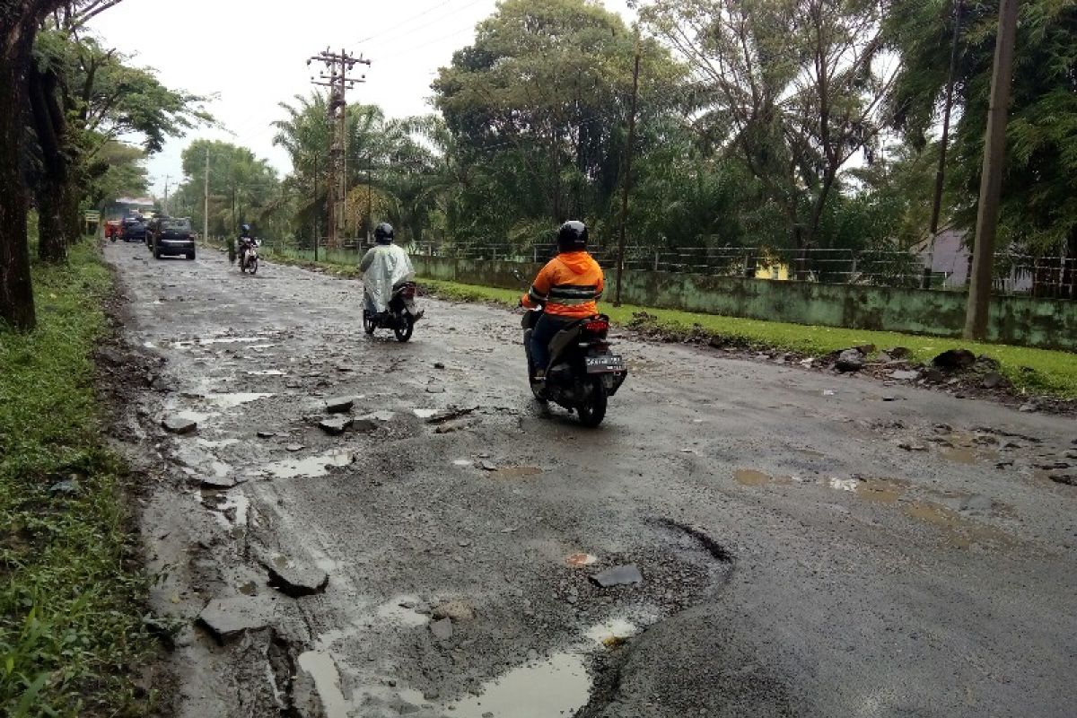
M 620 338 L 587 431 L 507 311 L 106 254 L 163 715 L 1073 715 L 1072 419 Z

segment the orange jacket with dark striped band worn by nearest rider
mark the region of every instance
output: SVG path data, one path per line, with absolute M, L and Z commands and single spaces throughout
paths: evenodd
M 603 287 L 602 268 L 590 254 L 563 252 L 542 268 L 522 301 L 531 309 L 545 305 L 547 314 L 585 319 L 599 313 Z

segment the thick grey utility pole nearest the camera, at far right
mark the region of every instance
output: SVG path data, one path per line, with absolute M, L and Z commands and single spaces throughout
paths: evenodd
M 976 214 L 976 244 L 973 249 L 973 272 L 965 313 L 966 339 L 983 339 L 988 333 L 991 274 L 994 268 L 995 234 L 998 229 L 998 197 L 1002 194 L 1003 166 L 1006 161 L 1006 116 L 1017 38 L 1018 2 L 1019 0 L 1002 0 L 998 9 L 998 38 L 995 41 L 995 65 L 991 76 L 991 109 L 988 111 L 980 206 Z

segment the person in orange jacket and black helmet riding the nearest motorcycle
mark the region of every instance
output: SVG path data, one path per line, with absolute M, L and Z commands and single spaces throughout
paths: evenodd
M 587 225 L 570 221 L 557 233 L 558 255 L 538 272 L 520 304 L 542 307 L 543 315 L 531 334 L 531 357 L 535 379 L 546 377 L 549 342 L 567 325 L 598 314 L 605 280 L 599 263 L 587 253 Z

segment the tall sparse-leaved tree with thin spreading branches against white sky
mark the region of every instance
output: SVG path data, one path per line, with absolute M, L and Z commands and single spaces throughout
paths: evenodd
M 794 243 L 816 243 L 849 160 L 882 126 L 894 69 L 875 0 L 656 0 L 641 15 L 693 68 L 699 110 L 782 208 Z

